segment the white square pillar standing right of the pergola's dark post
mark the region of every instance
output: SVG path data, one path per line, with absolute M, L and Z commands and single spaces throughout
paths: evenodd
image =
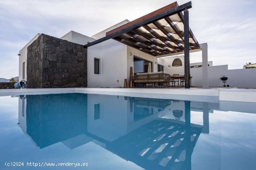
M 200 44 L 202 49 L 202 88 L 209 88 L 208 84 L 208 45 Z

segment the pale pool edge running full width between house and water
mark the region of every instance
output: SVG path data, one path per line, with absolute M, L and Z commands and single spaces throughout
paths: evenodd
M 56 93 L 90 93 L 154 97 L 164 95 L 177 97 L 181 100 L 196 99 L 198 97 L 212 97 L 219 101 L 256 102 L 256 89 L 245 88 L 29 88 L 29 89 L 0 89 L 0 96 L 29 95 L 29 94 L 56 94 Z M 139 94 L 139 95 L 138 95 Z M 155 97 L 154 97 L 155 98 Z M 203 99 L 204 100 L 204 99 Z

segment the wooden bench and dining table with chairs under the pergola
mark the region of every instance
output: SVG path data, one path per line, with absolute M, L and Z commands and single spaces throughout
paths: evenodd
M 191 85 L 191 76 L 190 76 L 190 85 Z M 137 87 L 139 83 L 143 84 L 143 87 L 147 84 L 151 84 L 153 87 L 167 87 L 170 86 L 176 87 L 184 87 L 185 76 L 174 74 L 169 75 L 167 73 L 163 73 L 163 71 L 155 72 L 155 73 L 137 73 L 133 76 L 134 87 Z M 171 85 L 170 85 L 171 84 Z

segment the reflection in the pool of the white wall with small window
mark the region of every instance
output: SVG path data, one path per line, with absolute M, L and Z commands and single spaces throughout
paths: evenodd
M 95 104 L 100 104 L 100 119 L 94 119 Z M 88 94 L 88 132 L 108 141 L 127 134 L 127 105 L 124 96 Z

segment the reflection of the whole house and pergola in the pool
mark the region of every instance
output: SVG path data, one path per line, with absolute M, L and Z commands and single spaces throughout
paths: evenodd
M 191 106 L 190 106 L 191 105 Z M 203 124 L 190 122 L 203 111 Z M 100 94 L 20 96 L 19 126 L 40 148 L 90 141 L 145 169 L 191 169 L 201 132 L 209 133 L 208 103 Z

